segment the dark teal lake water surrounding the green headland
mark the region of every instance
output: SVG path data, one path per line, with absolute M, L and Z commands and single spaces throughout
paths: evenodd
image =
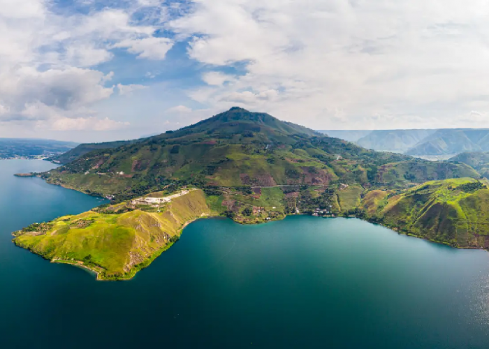
M 0 161 L 0 348 L 489 348 L 489 253 L 354 218 L 192 223 L 131 281 L 17 248 L 10 232 L 102 200 Z

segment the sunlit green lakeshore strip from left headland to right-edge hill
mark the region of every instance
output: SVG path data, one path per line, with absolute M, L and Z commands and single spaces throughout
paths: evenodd
M 14 232 L 17 246 L 101 280 L 131 279 L 205 216 L 265 223 L 286 214 L 351 215 L 455 247 L 489 248 L 488 181 L 446 179 L 405 190 L 359 184 L 272 188 L 177 188 L 105 205 Z

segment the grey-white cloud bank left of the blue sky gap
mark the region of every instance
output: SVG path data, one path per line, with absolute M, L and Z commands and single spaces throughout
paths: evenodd
M 0 125 L 24 121 L 24 127 L 41 131 L 105 131 L 128 125 L 92 110 L 114 91 L 114 74 L 93 67 L 110 61 L 115 49 L 164 59 L 173 41 L 156 37 L 158 27 L 147 24 L 141 12 L 161 3 L 140 1 L 137 7 L 99 10 L 96 1 L 80 6 L 84 4 L 85 13 L 63 13 L 53 1 L 0 0 Z M 161 19 L 163 13 L 155 11 Z M 117 86 L 120 94 L 138 89 L 137 84 Z

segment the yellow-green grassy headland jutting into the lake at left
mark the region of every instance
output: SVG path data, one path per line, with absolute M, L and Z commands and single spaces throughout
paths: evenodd
M 14 242 L 46 259 L 92 269 L 101 280 L 131 279 L 177 241 L 187 222 L 210 214 L 203 191 L 193 190 L 31 225 L 15 232 Z

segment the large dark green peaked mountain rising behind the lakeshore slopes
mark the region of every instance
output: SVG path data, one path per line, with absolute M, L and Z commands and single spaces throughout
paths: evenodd
M 390 163 L 408 163 L 408 168 Z M 397 171 L 397 172 L 396 172 Z M 407 176 L 407 177 L 406 177 Z M 49 183 L 117 200 L 168 184 L 406 186 L 427 179 L 475 177 L 466 165 L 418 161 L 329 138 L 263 113 L 232 108 L 178 131 L 91 151 L 43 174 Z

